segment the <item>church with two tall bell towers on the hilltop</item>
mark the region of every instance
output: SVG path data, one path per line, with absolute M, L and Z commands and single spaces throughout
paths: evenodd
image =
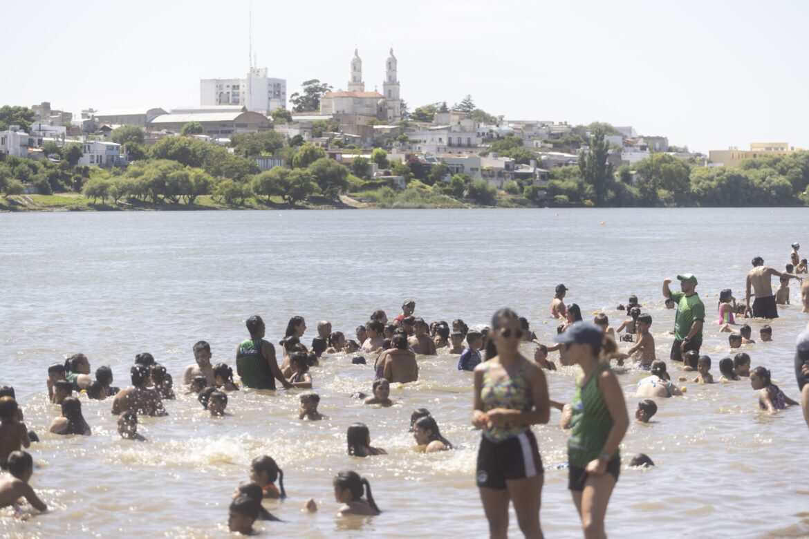
M 379 91 L 365 91 L 362 81 L 362 60 L 356 49 L 351 59 L 348 91 L 332 91 L 320 98 L 320 114 L 351 114 L 370 116 L 395 123 L 402 119 L 399 79 L 396 74 L 396 57 L 393 49 L 385 61 L 385 80 Z

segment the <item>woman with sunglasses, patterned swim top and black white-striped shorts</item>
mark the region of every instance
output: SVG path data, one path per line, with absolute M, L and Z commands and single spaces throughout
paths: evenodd
M 506 537 L 509 502 L 520 531 L 542 537 L 543 468 L 531 425 L 548 423 L 548 383 L 542 369 L 519 353 L 519 318 L 498 310 L 486 341 L 486 361 L 475 368 L 472 424 L 483 431 L 477 453 L 477 486 L 491 537 Z

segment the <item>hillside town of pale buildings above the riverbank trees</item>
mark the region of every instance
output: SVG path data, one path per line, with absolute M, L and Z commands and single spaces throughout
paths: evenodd
M 61 149 L 74 146 L 73 166 L 125 171 L 146 158 L 150 148 L 163 139 L 192 137 L 252 160 L 252 173 L 260 174 L 275 167 L 294 168 L 294 150 L 290 152 L 290 148 L 300 151 L 314 147 L 320 151 L 318 156 L 344 165 L 353 179 L 364 181 L 341 186 L 341 194 L 375 187 L 404 191 L 413 180 L 428 177 L 433 183 L 449 185 L 455 176 L 460 176 L 466 187 L 482 182 L 492 193 L 545 205 L 586 204 L 593 199 L 604 203 L 607 195 L 599 193 L 598 180 L 591 181 L 595 196 L 583 187 L 572 193 L 560 187 L 574 173 L 582 175 L 586 169 L 582 160 L 596 155 L 603 169 L 600 174 L 610 175 L 608 181 L 624 183 L 621 188 L 637 187 L 640 194 L 633 195 L 633 200 L 641 200 L 643 187 L 638 187 L 637 181 L 642 181 L 644 163 L 653 157 L 688 163 L 687 175 L 693 175 L 701 167 L 734 167 L 746 159 L 799 152 L 786 142 L 753 142 L 749 150 L 711 150 L 705 155 L 688 151 L 687 146 L 670 145 L 664 134 L 638 133 L 629 125 L 571 125 L 564 120 L 495 116 L 476 107 L 471 95 L 453 105 L 439 101 L 411 111 L 402 99 L 398 61 L 392 49 L 385 65 L 371 70 L 372 77 L 381 79 L 381 92 L 378 85 L 373 91 L 366 88 L 358 50 L 354 50 L 346 66 L 345 89 L 335 90 L 312 79 L 303 82 L 301 92 L 290 96 L 285 79 L 271 78 L 267 69 L 251 66 L 245 78 L 202 79 L 199 105 L 195 106 L 164 107 L 164 103 L 154 103 L 155 107 L 139 109 L 88 107 L 74 117 L 49 102 L 35 104 L 30 107 L 32 118 L 28 125 L 0 124 L 0 158 L 60 162 L 64 157 Z M 142 133 L 138 144 L 116 137 L 122 128 L 137 128 Z M 240 150 L 235 144 L 239 137 L 268 132 L 282 137 L 285 148 L 256 149 L 253 145 Z M 591 152 L 594 140 L 599 145 L 597 153 Z M 78 183 L 86 183 L 91 177 L 87 175 Z M 553 179 L 559 180 L 556 188 L 549 186 Z M 41 191 L 32 183 L 21 183 L 23 194 Z M 422 183 L 430 186 L 430 182 Z M 676 187 L 654 188 L 667 189 L 672 200 L 676 199 Z M 462 186 L 454 191 L 456 198 L 470 198 L 468 188 Z M 451 190 L 445 188 L 443 192 Z M 491 201 L 493 197 L 486 198 Z M 621 205 L 620 198 L 615 204 Z M 655 198 L 663 202 L 665 199 L 665 195 Z M 485 200 L 478 201 L 485 204 Z

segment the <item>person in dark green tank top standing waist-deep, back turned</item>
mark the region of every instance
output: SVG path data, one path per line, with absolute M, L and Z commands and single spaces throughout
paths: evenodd
M 278 368 L 273 343 L 264 339 L 264 321 L 256 314 L 248 318 L 246 325 L 250 339 L 242 341 L 236 347 L 236 373 L 239 373 L 244 387 L 275 390 L 277 380 L 284 389 L 290 389 L 292 385 L 284 378 L 281 368 Z

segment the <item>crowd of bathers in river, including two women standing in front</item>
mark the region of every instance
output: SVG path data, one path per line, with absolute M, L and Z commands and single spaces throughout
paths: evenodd
M 786 272 L 763 266 L 760 257 L 753 259 L 754 270 L 748 275 L 744 303 L 737 303 L 729 289 L 718 295 L 717 333 L 730 332 L 731 352 L 718 361 L 721 374 L 718 381 L 730 384 L 749 378 L 757 392 L 758 406 L 770 413 L 803 403 L 809 424 L 809 327 L 798 338 L 795 375 L 802 402 L 796 402 L 773 383 L 767 368 L 760 365 L 751 368 L 750 354 L 739 349 L 756 343 L 752 327 L 736 322 L 739 317 L 777 317 L 776 305 L 789 301 L 788 294 L 780 300 L 777 293 L 770 298 L 766 292 L 771 290 L 765 280 L 771 276 L 801 280 L 797 274 L 806 273 L 807 264 L 805 259 L 797 260 L 798 248 L 797 243 L 793 245 L 790 261 L 794 262 L 790 262 Z M 476 481 L 491 537 L 506 537 L 511 503 L 522 533 L 526 537 L 542 537 L 540 501 L 544 469 L 531 426 L 548 423 L 551 408 L 561 411 L 561 427 L 570 430 L 568 488 L 584 535 L 605 537 L 604 518 L 621 472 L 619 447 L 629 427 L 629 410 L 618 375 L 629 368 L 649 373 L 637 383 L 635 396 L 639 401 L 634 417 L 639 423 L 649 423 L 666 398 L 687 392 L 688 383 L 714 383 L 710 372 L 712 360 L 700 353 L 706 315 L 705 305 L 695 291 L 697 277 L 686 273 L 677 279 L 679 291 L 671 290 L 673 280 L 663 281 L 666 308 L 677 310 L 669 358 L 681 364 L 677 383 L 668 372 L 666 361 L 656 355 L 650 331 L 652 317 L 643 311 L 637 297 L 629 297 L 627 305 L 619 305 L 626 318 L 612 328 L 604 313 L 595 314 L 593 322 L 584 321 L 577 304 L 565 305 L 568 288 L 559 284 L 550 305 L 552 317 L 561 322 L 553 343 L 541 343 L 527 319 L 509 309 L 498 310 L 489 326 L 470 328 L 460 319 L 428 324 L 413 316 L 416 305 L 408 300 L 392 321 L 382 310 L 375 311 L 366 324 L 355 329 L 355 339 L 332 331 L 327 321 L 319 322 L 311 347 L 301 342 L 305 320 L 293 317 L 278 343 L 280 352 L 276 355 L 275 345 L 265 339 L 265 323 L 259 316 L 252 316 L 246 321 L 249 338 L 236 347 L 235 373 L 228 364 L 214 364 L 210 344 L 199 341 L 193 345 L 194 363 L 182 374 L 182 390 L 196 395 L 206 413 L 223 418 L 229 415 L 228 394 L 241 388 L 275 390 L 277 384 L 286 389 L 297 388 L 303 390 L 297 394 L 299 419 L 317 421 L 325 416 L 318 411 L 320 396 L 312 390 L 316 381 L 311 368 L 320 365 L 327 356 L 352 356 L 353 364 L 366 364 L 365 355 L 375 356 L 371 395 L 358 393 L 354 397 L 366 405 L 391 406 L 391 384 L 417 381 L 419 356 L 433 356 L 443 349 L 444 353 L 458 356 L 459 370 L 472 371 L 472 425 L 482 432 Z M 756 288 L 757 304 L 750 303 L 751 287 Z M 783 288 L 782 282 L 778 292 Z M 807 282 L 802 286 L 802 299 L 804 311 L 809 312 Z M 757 316 L 762 313 L 766 316 Z M 771 326 L 760 326 L 760 341 L 771 341 L 772 334 Z M 629 344 L 621 350 L 619 343 L 625 341 Z M 520 352 L 523 343 L 536 345 L 532 357 Z M 556 362 L 549 356 L 553 352 L 558 352 L 561 366 L 578 365 L 580 369 L 571 402 L 557 402 L 549 397 L 545 373 L 557 370 Z M 612 360 L 616 362 L 615 369 L 611 367 Z M 96 368 L 95 377 L 91 373 L 90 361 L 83 354 L 69 356 L 64 363 L 47 369 L 49 399 L 61 411 L 50 424 L 49 432 L 91 436 L 91 425 L 82 414 L 82 398 L 109 398 L 111 412 L 118 417 L 120 436 L 125 440 L 146 441 L 138 433 L 138 415 L 167 415 L 163 401 L 176 398 L 171 374 L 148 352 L 135 357 L 129 371 L 131 385 L 124 389 L 112 385 L 109 367 Z M 683 382 L 685 385 L 680 385 Z M 453 448 L 442 436 L 437 420 L 423 408 L 413 412 L 409 430 L 425 453 Z M 0 507 L 16 506 L 26 499 L 34 509 L 46 510 L 45 503 L 28 484 L 33 461 L 24 449 L 37 440 L 36 433 L 30 432 L 24 423 L 13 388 L 0 388 L 0 468 L 11 474 L 0 482 Z M 387 454 L 385 449 L 371 444 L 371 432 L 364 423 L 348 427 L 346 453 L 362 458 Z M 630 465 L 649 466 L 654 462 L 639 453 L 632 457 Z M 273 458 L 256 457 L 248 475 L 250 480 L 235 489 L 229 506 L 228 527 L 233 532 L 252 533 L 255 520 L 278 520 L 261 505 L 261 500 L 286 498 L 283 472 Z M 340 504 L 339 516 L 379 514 L 366 478 L 354 471 L 344 471 L 337 474 L 332 486 L 334 499 Z M 303 508 L 315 512 L 318 503 L 307 499 Z

